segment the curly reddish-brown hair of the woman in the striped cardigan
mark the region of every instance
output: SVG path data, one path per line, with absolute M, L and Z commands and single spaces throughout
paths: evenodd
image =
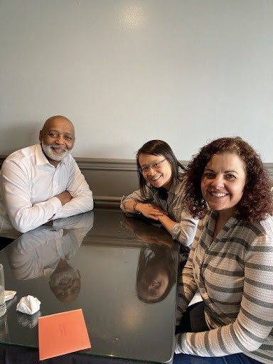
M 240 137 L 220 138 L 203 146 L 187 167 L 185 205 L 194 218 L 203 218 L 208 212 L 200 188 L 205 166 L 213 154 L 236 153 L 245 161 L 247 181 L 241 200 L 237 203 L 240 220 L 253 223 L 273 213 L 272 193 L 267 169 L 255 149 Z

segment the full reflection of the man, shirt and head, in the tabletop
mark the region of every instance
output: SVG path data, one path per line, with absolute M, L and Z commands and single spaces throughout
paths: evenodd
M 5 252 L 16 279 L 45 277 L 60 301 L 74 301 L 80 291 L 80 270 L 69 264 L 92 229 L 94 213 L 55 220 L 24 233 Z

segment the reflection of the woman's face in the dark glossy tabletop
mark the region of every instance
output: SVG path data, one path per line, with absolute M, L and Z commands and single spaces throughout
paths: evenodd
M 158 265 L 145 269 L 138 284 L 139 296 L 146 301 L 159 299 L 168 287 L 168 272 Z

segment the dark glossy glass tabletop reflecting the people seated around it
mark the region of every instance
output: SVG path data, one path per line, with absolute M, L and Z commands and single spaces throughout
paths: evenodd
M 178 244 L 161 225 L 96 208 L 26 232 L 0 262 L 6 290 L 17 292 L 0 318 L 0 343 L 38 347 L 38 317 L 82 309 L 92 345 L 82 353 L 172 359 Z M 16 311 L 28 294 L 41 301 L 32 316 Z

